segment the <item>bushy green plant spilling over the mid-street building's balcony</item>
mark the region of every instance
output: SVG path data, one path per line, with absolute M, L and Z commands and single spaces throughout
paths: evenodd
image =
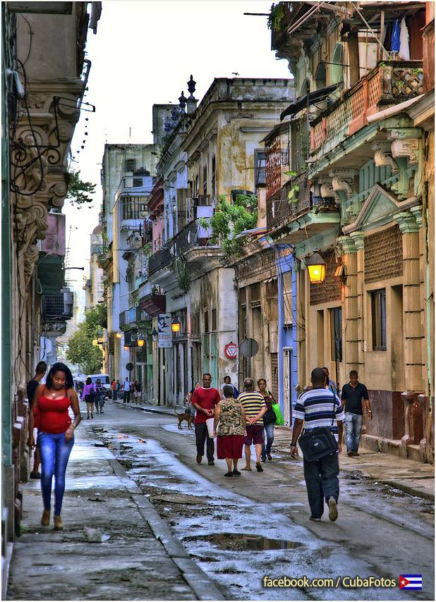
M 238 195 L 233 203 L 226 197 L 218 197 L 217 208 L 211 218 L 200 219 L 203 228 L 211 228 L 210 242 L 219 242 L 229 257 L 241 254 L 246 237 L 236 238 L 243 231 L 255 228 L 258 223 L 258 197 L 256 195 Z

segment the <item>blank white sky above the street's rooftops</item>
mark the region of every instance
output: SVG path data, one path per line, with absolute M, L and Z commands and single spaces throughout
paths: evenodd
M 251 1 L 104 1 L 97 35 L 88 30 L 87 59 L 92 61 L 83 112 L 76 126 L 73 156 L 83 180 L 97 184 L 92 208 L 73 209 L 68 202 L 68 266 L 89 273 L 90 238 L 102 203 L 100 168 L 104 142 L 151 143 L 152 105 L 173 102 L 193 74 L 195 98 L 202 99 L 214 77 L 289 78 L 287 62 L 275 59 L 267 17 L 272 0 Z M 85 121 L 85 117 L 89 121 Z M 85 136 L 85 125 L 88 135 Z M 85 148 L 80 146 L 85 142 Z M 77 151 L 80 151 L 78 154 Z M 76 290 L 83 272 L 68 271 Z M 84 297 L 82 295 L 82 302 Z

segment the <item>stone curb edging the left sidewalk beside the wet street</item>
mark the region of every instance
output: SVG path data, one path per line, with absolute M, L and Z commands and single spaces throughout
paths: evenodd
M 143 408 L 144 410 L 145 408 Z M 119 461 L 114 457 L 109 460 L 109 465 L 114 470 L 116 476 L 119 477 L 121 484 L 131 494 L 138 512 L 150 525 L 150 529 L 152 529 L 156 539 L 162 543 L 169 558 L 181 571 L 183 579 L 185 579 L 198 600 L 224 600 L 222 592 L 219 591 L 212 579 L 190 559 L 186 548 L 171 534 L 171 530 L 166 522 L 159 516 L 150 500 L 143 495 L 142 491 L 135 484 L 135 481 L 128 477 L 126 470 L 121 466 Z

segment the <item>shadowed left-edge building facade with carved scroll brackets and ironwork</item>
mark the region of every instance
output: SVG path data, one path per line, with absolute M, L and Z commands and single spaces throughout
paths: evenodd
M 68 152 L 90 69 L 90 61 L 84 58 L 87 28 L 96 31 L 101 11 L 95 2 L 88 14 L 87 4 L 2 4 L 5 579 L 10 553 L 6 541 L 19 529 L 20 481 L 28 478 L 25 386 L 40 360 L 42 341 L 63 333 L 72 314 L 73 302 L 69 304 L 68 291 L 63 290 L 61 208 L 67 192 Z

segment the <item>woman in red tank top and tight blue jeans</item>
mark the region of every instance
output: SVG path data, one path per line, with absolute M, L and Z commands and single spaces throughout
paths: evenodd
M 41 491 L 44 503 L 41 524 L 50 524 L 50 501 L 52 498 L 52 480 L 54 475 L 54 529 L 63 529 L 61 508 L 65 491 L 65 472 L 71 449 L 74 445 L 74 429 L 78 426 L 80 416 L 79 400 L 74 390 L 73 376 L 70 369 L 61 362 L 53 364 L 47 375 L 47 383 L 37 386 L 33 395 L 30 412 L 30 433 L 28 444 L 35 446 L 33 426 L 34 410 L 38 407 L 40 425 L 38 426 L 37 446 L 41 456 Z M 74 412 L 71 422 L 68 408 Z

